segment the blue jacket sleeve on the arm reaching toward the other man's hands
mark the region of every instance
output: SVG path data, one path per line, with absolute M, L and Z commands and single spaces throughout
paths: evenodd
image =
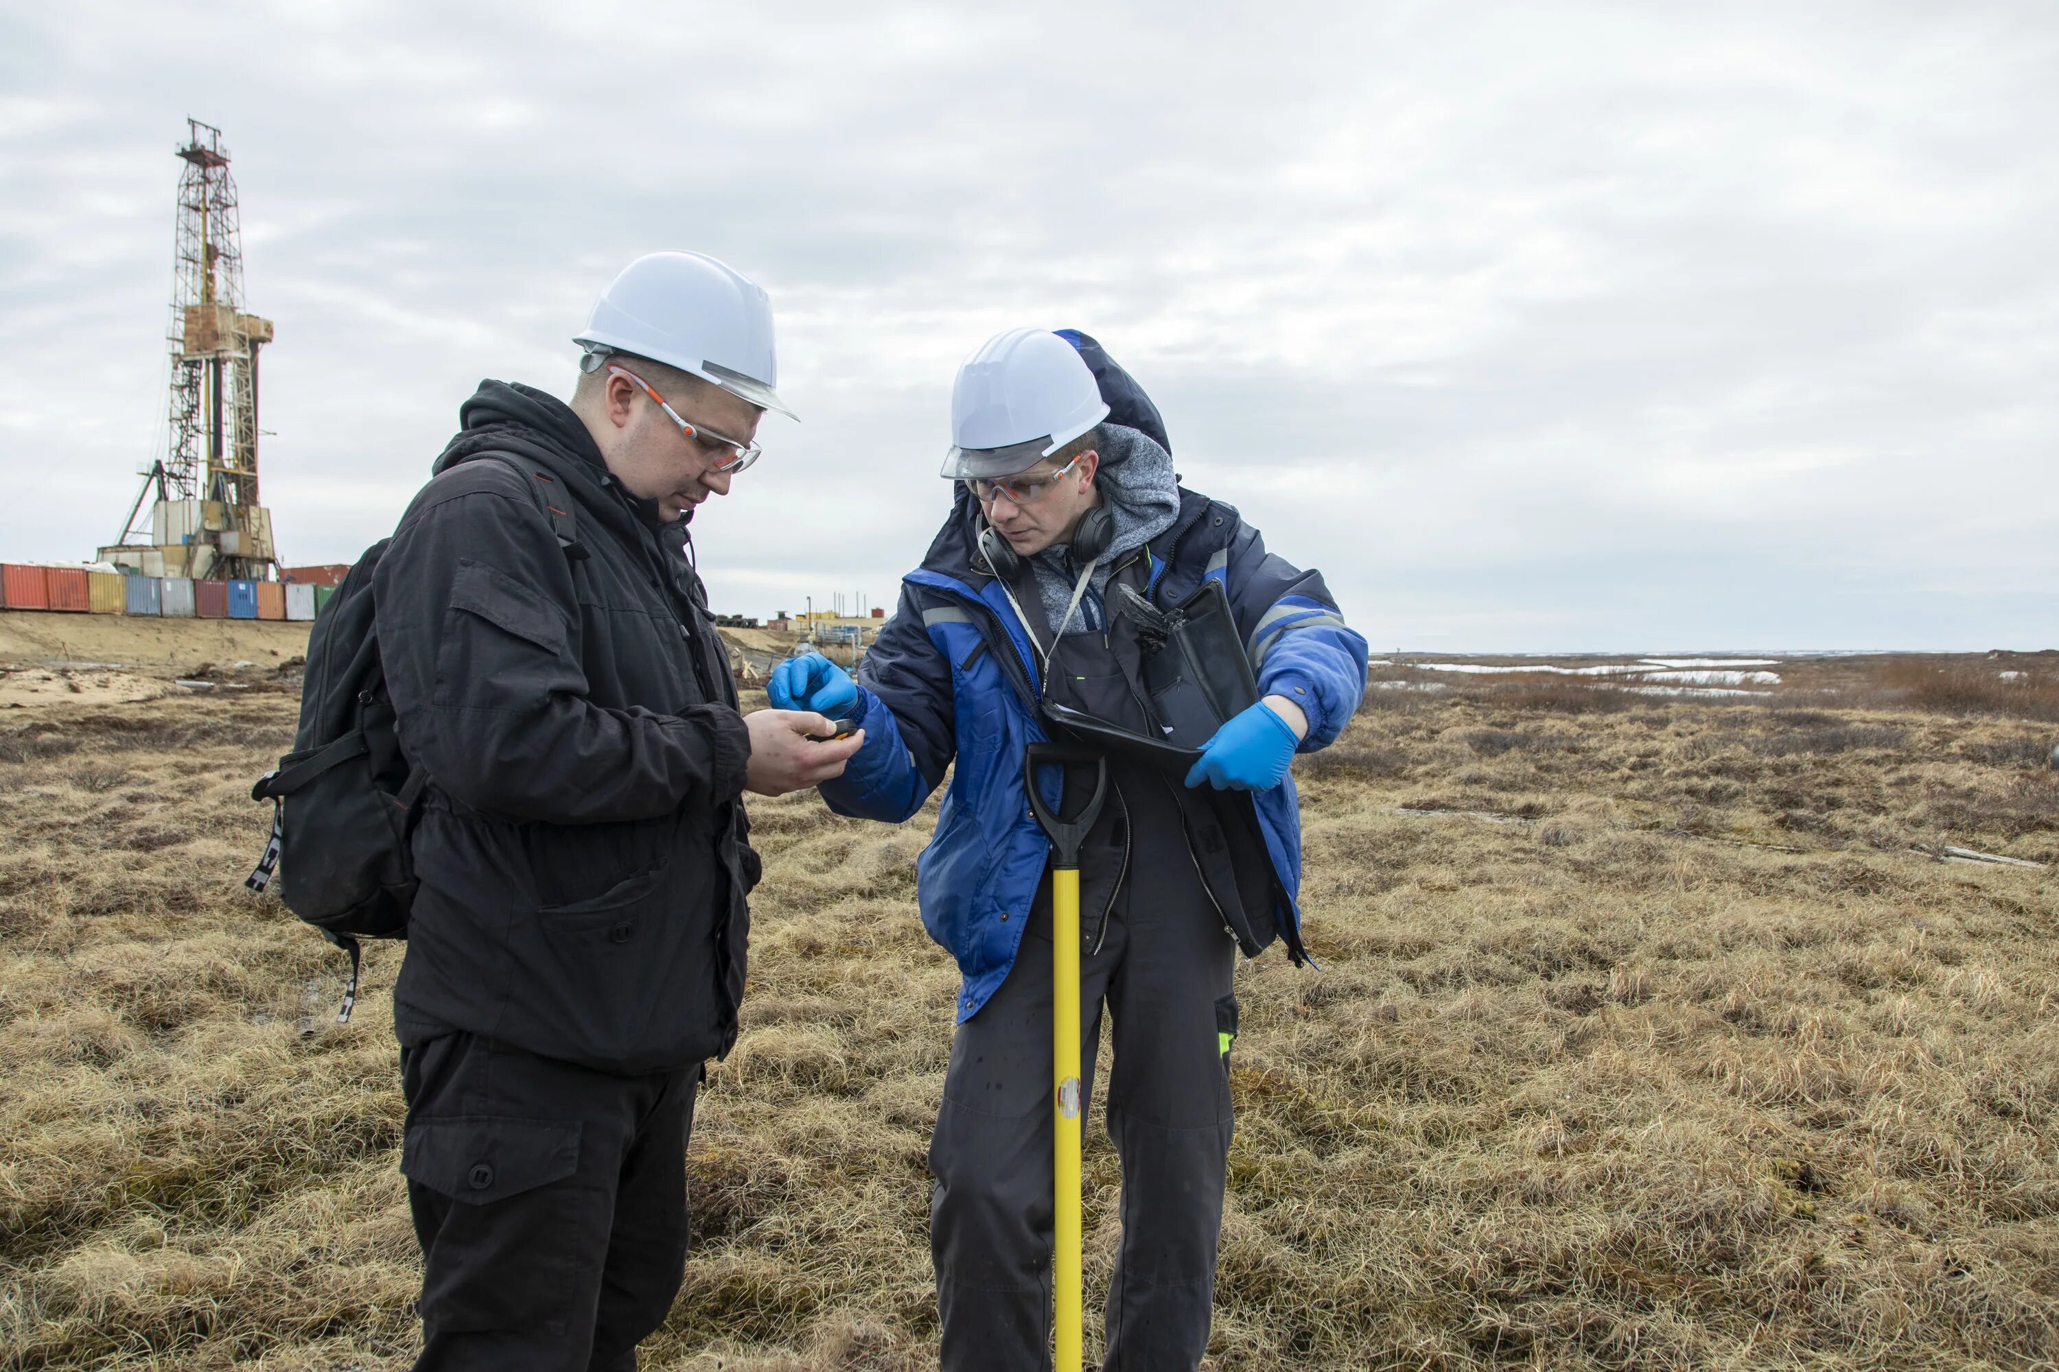
M 931 642 L 922 607 L 906 586 L 859 664 L 857 716 L 865 747 L 817 790 L 838 815 L 898 825 L 922 808 L 957 753 L 951 660 Z

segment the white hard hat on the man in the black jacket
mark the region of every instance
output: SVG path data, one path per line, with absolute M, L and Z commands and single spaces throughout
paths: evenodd
M 634 352 L 677 366 L 760 409 L 797 418 L 772 389 L 772 300 L 706 253 L 651 253 L 622 267 L 572 341 L 589 358 Z

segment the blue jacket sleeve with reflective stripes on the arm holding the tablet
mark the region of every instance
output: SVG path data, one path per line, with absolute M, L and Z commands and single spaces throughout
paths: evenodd
M 1250 525 L 1237 527 L 1227 553 L 1225 586 L 1258 693 L 1301 706 L 1301 753 L 1328 747 L 1365 697 L 1365 638 L 1345 623 L 1322 572 L 1268 553 Z

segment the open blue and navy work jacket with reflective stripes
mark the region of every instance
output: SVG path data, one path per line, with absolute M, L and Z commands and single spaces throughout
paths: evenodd
M 1040 656 L 1009 594 L 978 553 L 980 514 L 964 485 L 900 607 L 859 669 L 865 747 L 822 784 L 832 810 L 900 823 L 951 773 L 937 833 L 916 862 L 931 938 L 957 959 L 957 1020 L 1001 987 L 1027 926 L 1050 841 L 1027 804 L 1023 755 L 1044 741 Z M 1365 689 L 1365 640 L 1345 625 L 1318 572 L 1266 551 L 1258 531 L 1217 500 L 1182 490 L 1172 527 L 1145 553 L 1147 597 L 1170 607 L 1219 580 L 1262 695 L 1307 714 L 1301 751 L 1342 732 Z M 1056 771 L 1056 769 L 1052 769 Z M 1042 778 L 1058 804 L 1058 778 Z M 1272 866 L 1277 909 L 1233 930 L 1248 954 L 1277 932 L 1301 961 L 1301 815 L 1293 780 L 1252 792 L 1256 839 Z M 1246 942 L 1248 940 L 1248 942 Z M 1256 944 L 1256 946 L 1254 946 Z

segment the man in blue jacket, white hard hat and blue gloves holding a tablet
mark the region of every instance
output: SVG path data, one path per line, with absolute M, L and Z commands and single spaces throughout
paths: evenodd
M 770 695 L 863 722 L 865 745 L 819 788 L 840 815 L 902 823 L 957 763 L 916 864 L 922 924 L 964 973 L 931 1142 L 943 1368 L 1036 1370 L 1050 1329 L 1052 915 L 1023 753 L 1050 736 L 1046 706 L 1165 730 L 1143 679 L 1153 609 L 1211 580 L 1227 590 L 1262 699 L 1184 773 L 1112 751 L 1110 804 L 1081 850 L 1081 1061 L 1091 1090 L 1106 1002 L 1122 1156 L 1106 1366 L 1190 1372 L 1223 1220 L 1235 954 L 1279 938 L 1305 959 L 1289 763 L 1351 720 L 1365 640 L 1320 574 L 1178 485 L 1157 409 L 1091 337 L 997 335 L 959 368 L 951 409 L 951 514 L 859 681 L 803 656 Z M 1067 767 L 1038 786 L 1071 806 L 1091 780 Z

